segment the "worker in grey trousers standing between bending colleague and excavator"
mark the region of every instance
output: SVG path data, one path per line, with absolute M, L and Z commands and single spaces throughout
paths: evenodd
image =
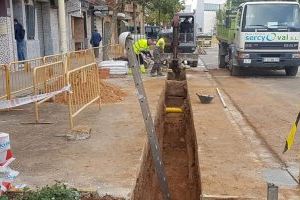
M 163 74 L 161 73 L 161 65 L 162 65 L 161 54 L 164 52 L 165 44 L 166 43 L 165 43 L 164 38 L 160 38 L 157 41 L 156 46 L 153 50 L 154 64 L 153 64 L 153 67 L 152 67 L 151 72 L 150 72 L 150 75 L 152 77 L 155 76 L 156 72 L 157 72 L 157 76 L 163 76 Z

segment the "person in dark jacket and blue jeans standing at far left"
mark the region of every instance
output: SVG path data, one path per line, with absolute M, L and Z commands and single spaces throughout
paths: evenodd
M 25 30 L 22 24 L 20 24 L 17 19 L 14 19 L 14 28 L 15 40 L 17 41 L 18 60 L 25 60 Z

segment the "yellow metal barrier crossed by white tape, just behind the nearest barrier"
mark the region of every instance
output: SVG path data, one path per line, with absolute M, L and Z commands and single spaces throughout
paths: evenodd
M 33 87 L 34 94 L 46 94 L 59 91 L 66 86 L 65 66 L 63 61 L 58 61 L 34 68 L 33 70 Z M 51 99 L 46 98 L 42 101 L 35 102 L 36 122 L 39 122 L 39 106 Z

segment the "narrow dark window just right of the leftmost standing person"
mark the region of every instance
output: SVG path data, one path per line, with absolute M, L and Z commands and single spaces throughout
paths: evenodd
M 27 39 L 34 40 L 35 36 L 35 8 L 34 5 L 25 5 Z

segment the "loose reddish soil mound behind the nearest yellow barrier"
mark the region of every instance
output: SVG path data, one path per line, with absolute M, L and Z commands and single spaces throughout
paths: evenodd
M 100 81 L 100 98 L 101 103 L 111 104 L 117 103 L 124 100 L 127 94 L 120 87 Z M 55 97 L 55 103 L 68 104 L 68 98 L 65 98 L 64 94 L 57 95 Z

